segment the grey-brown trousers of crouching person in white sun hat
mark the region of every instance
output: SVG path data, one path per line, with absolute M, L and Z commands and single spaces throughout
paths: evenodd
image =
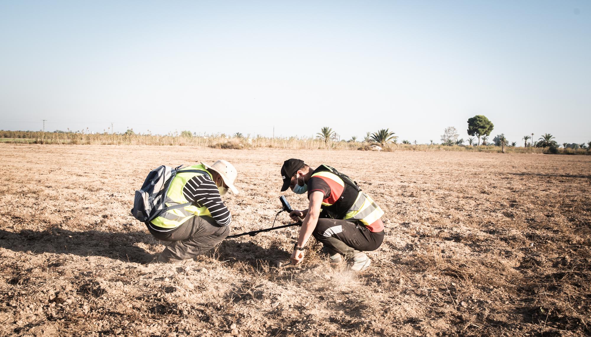
M 158 232 L 151 224 L 147 227 L 156 239 L 172 242 L 160 253 L 161 262 L 193 259 L 218 245 L 230 233 L 229 226 L 217 226 L 208 216 L 191 217 L 171 232 Z

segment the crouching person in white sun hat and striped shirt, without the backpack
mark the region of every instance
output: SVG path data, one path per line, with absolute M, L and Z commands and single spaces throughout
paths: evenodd
M 187 170 L 187 172 L 184 172 Z M 191 172 L 189 172 L 189 170 Z M 157 258 L 161 263 L 181 263 L 212 249 L 228 236 L 232 216 L 220 195 L 228 189 L 238 194 L 232 164 L 218 160 L 181 168 L 168 187 L 167 197 L 190 206 L 170 209 L 146 226 L 158 240 L 170 241 Z

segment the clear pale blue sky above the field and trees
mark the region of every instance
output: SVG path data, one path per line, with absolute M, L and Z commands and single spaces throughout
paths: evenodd
M 591 1 L 0 0 L 0 129 L 591 140 Z

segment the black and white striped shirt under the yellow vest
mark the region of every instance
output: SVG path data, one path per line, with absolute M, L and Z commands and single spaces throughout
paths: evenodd
M 209 176 L 195 176 L 187 181 L 183 188 L 183 195 L 188 201 L 199 203 L 197 207 L 205 206 L 212 214 L 213 220 L 219 226 L 228 226 L 232 216 L 222 202 L 216 183 Z

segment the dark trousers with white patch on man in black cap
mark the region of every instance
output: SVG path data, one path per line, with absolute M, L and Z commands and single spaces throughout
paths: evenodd
M 337 219 L 318 219 L 312 235 L 322 242 L 330 255 L 339 253 L 345 257 L 376 250 L 384 240 L 383 230 L 374 233 L 363 224 Z

